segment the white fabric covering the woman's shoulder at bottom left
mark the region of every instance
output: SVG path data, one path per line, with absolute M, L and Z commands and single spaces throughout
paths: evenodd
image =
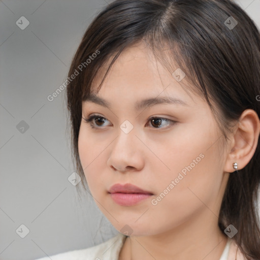
M 86 249 L 59 253 L 36 260 L 116 260 L 123 246 L 126 236 L 119 233 L 108 241 Z

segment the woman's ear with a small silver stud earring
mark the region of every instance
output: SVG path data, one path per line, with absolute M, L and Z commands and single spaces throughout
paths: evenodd
M 260 120 L 257 113 L 252 109 L 246 109 L 241 114 L 236 131 L 230 139 L 229 153 L 223 169 L 225 172 L 236 171 L 233 163 L 238 164 L 237 170 L 243 169 L 249 163 L 257 147 L 259 133 Z

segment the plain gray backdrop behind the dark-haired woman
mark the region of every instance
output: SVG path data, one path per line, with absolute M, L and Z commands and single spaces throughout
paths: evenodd
M 67 78 L 87 25 L 108 2 L 0 1 L 2 260 L 86 248 L 117 233 L 90 196 L 80 201 L 68 181 L 74 169 L 65 91 L 47 100 Z M 238 3 L 260 28 L 260 0 Z M 21 16 L 29 21 L 23 30 L 16 25 Z M 19 129 L 22 120 L 28 129 Z M 25 238 L 16 232 L 21 224 L 29 229 Z

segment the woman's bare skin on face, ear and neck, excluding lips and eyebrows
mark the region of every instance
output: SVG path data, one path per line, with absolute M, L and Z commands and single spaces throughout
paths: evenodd
M 104 71 L 105 67 L 93 81 L 93 89 Z M 96 204 L 119 232 L 126 224 L 132 229 L 120 260 L 219 260 L 228 241 L 217 224 L 224 189 L 229 175 L 237 174 L 233 163 L 242 169 L 254 154 L 259 118 L 252 110 L 244 111 L 230 141 L 219 145 L 223 137 L 209 106 L 183 89 L 184 80 L 177 82 L 141 43 L 118 57 L 97 94 L 111 103 L 110 109 L 89 101 L 82 104 L 83 118 L 97 114 L 106 119 L 92 121 L 96 129 L 82 119 L 78 146 Z M 155 96 L 172 96 L 187 106 L 160 104 L 135 110 L 136 101 Z M 151 116 L 176 123 L 152 124 Z M 134 126 L 128 134 L 120 129 L 124 120 Z M 151 200 L 200 154 L 200 162 L 152 205 Z M 120 206 L 108 193 L 115 183 L 132 183 L 154 195 L 134 206 Z

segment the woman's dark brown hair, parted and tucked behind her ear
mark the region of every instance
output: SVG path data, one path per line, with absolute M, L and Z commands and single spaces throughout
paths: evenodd
M 67 86 L 67 106 L 73 160 L 84 188 L 78 153 L 82 101 L 90 94 L 93 78 L 101 67 L 109 64 L 100 87 L 120 53 L 140 41 L 145 41 L 166 66 L 171 66 L 169 60 L 177 62 L 185 79 L 206 99 L 225 139 L 231 123 L 245 109 L 254 110 L 260 117 L 260 102 L 256 99 L 260 94 L 260 34 L 237 4 L 228 0 L 114 1 L 87 28 L 69 71 L 69 76 L 79 72 Z M 256 210 L 259 155 L 258 139 L 248 165 L 229 177 L 218 220 L 222 232 L 229 224 L 235 226 L 238 233 L 233 239 L 248 259 L 260 259 Z

